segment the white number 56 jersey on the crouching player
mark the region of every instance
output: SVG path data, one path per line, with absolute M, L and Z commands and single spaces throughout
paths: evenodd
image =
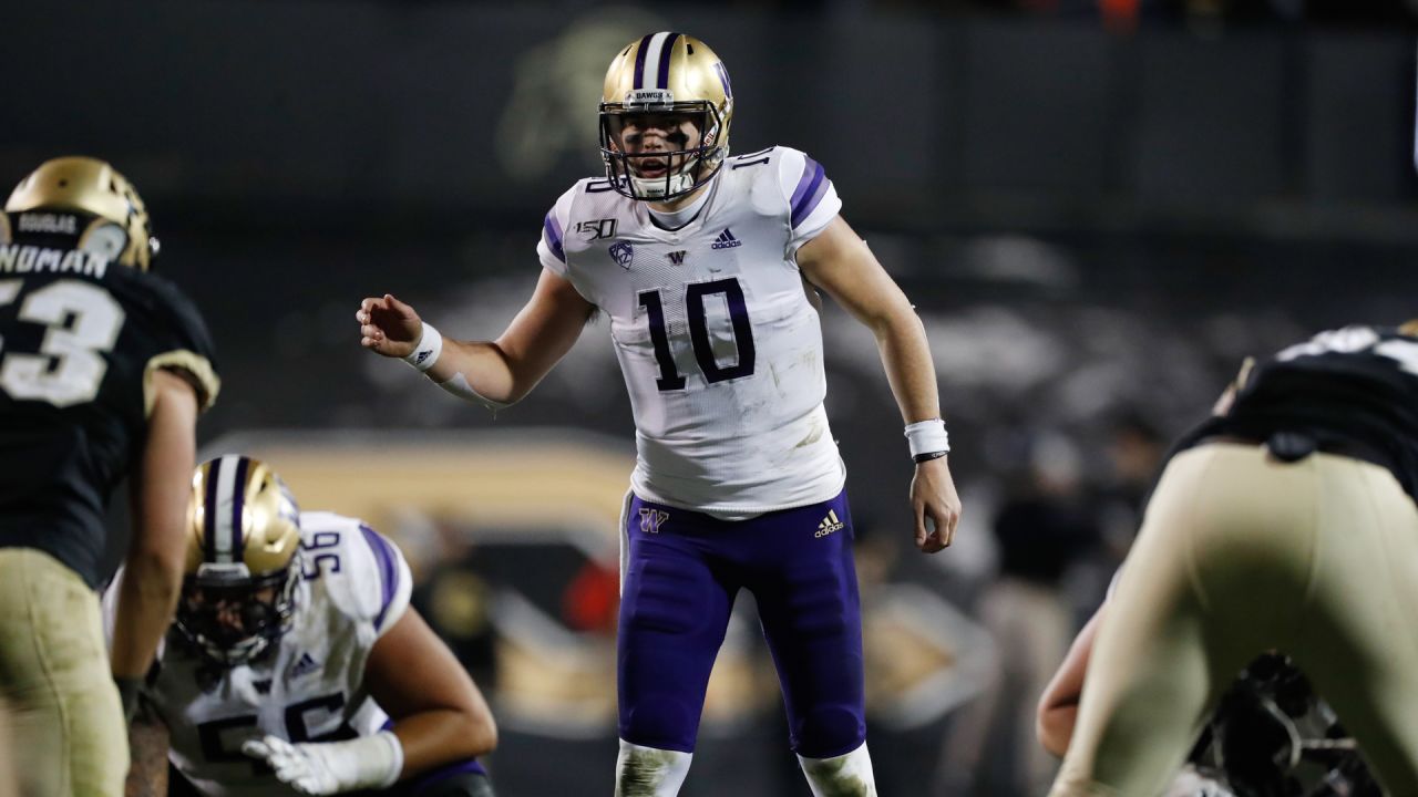
M 389 719 L 367 698 L 364 662 L 408 608 L 408 563 L 383 535 L 329 512 L 301 513 L 301 556 L 295 621 L 258 661 L 216 668 L 176 628 L 159 651 L 143 693 L 170 732 L 169 759 L 203 794 L 296 794 L 241 753 L 245 739 L 353 739 Z

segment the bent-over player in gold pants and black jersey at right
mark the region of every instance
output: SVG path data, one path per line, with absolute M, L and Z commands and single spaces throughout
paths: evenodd
M 1246 363 L 1177 444 L 1113 596 L 1049 688 L 1045 739 L 1058 750 L 1072 726 L 1051 794 L 1160 793 L 1266 651 L 1309 676 L 1385 793 L 1418 794 L 1415 407 L 1418 322 Z M 1059 696 L 1078 689 L 1073 720 Z

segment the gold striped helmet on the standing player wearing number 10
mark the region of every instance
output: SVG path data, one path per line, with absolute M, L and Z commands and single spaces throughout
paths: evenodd
M 637 118 L 686 118 L 699 146 L 628 153 L 621 132 Z M 708 183 L 729 155 L 733 88 L 723 61 L 709 45 L 681 33 L 652 33 L 621 50 L 601 92 L 601 160 L 621 194 L 671 200 Z M 669 139 L 674 142 L 674 136 Z M 651 160 L 647 160 L 651 159 Z M 664 163 L 645 169 L 644 163 Z M 647 174 L 651 172 L 651 174 Z

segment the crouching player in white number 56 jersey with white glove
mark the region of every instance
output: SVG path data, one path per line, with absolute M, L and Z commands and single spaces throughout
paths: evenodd
M 248 457 L 204 462 L 190 494 L 182 598 L 143 686 L 129 794 L 491 797 L 475 757 L 496 745 L 492 713 L 410 608 L 398 547 L 299 512 Z

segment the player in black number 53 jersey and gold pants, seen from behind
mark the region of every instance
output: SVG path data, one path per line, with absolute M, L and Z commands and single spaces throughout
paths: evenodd
M 0 703 L 21 794 L 123 788 L 125 709 L 182 586 L 196 423 L 218 381 L 156 254 L 143 200 L 102 160 L 43 163 L 0 213 Z M 109 657 L 96 590 L 125 478 L 138 577 Z

